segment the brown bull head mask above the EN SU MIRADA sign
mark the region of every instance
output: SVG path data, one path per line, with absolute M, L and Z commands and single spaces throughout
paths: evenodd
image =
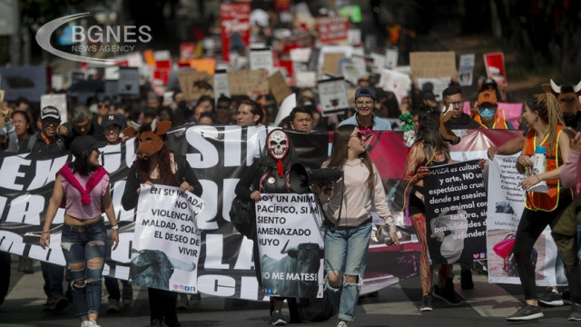
M 157 122 L 153 120 L 152 124 L 135 124 L 130 122 L 129 127 L 123 130 L 123 134 L 127 137 L 137 137 L 139 145 L 137 145 L 137 157 L 146 158 L 157 154 L 162 150 L 163 140 L 162 135 L 172 127 L 172 122 L 163 121 Z

